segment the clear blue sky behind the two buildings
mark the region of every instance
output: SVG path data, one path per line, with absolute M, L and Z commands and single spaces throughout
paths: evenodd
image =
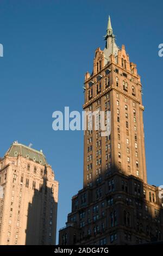
M 142 77 L 148 182 L 163 184 L 162 10 L 160 0 L 0 2 L 0 155 L 15 140 L 43 149 L 60 182 L 58 229 L 83 186 L 83 132 L 53 131 L 52 113 L 82 111 L 84 74 L 104 48 L 109 14 Z

